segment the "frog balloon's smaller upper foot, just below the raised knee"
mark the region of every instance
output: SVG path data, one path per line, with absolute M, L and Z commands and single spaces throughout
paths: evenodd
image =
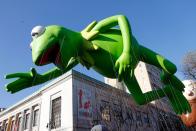
M 176 76 L 162 71 L 160 77 L 161 77 L 161 81 L 165 85 L 171 85 L 173 86 L 173 88 L 179 91 L 184 91 L 185 88 L 184 84 Z

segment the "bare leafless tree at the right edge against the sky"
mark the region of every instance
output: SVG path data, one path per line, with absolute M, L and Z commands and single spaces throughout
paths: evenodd
M 188 52 L 185 55 L 182 68 L 186 78 L 196 80 L 196 51 Z

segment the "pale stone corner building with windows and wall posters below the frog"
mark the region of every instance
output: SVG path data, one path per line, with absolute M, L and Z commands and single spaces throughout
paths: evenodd
M 0 112 L 1 131 L 186 130 L 178 116 L 154 104 L 139 106 L 131 95 L 70 71 Z

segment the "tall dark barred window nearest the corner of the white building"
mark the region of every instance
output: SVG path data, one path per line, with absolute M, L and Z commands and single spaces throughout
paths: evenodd
M 51 129 L 61 127 L 61 97 L 52 100 Z

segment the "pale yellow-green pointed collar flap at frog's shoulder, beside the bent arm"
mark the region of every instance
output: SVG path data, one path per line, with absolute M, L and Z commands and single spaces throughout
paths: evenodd
M 86 40 L 92 40 L 93 38 L 95 38 L 98 34 L 99 31 L 97 30 L 92 30 L 93 27 L 97 24 L 96 21 L 93 21 L 92 23 L 90 23 L 84 30 L 81 31 L 82 36 L 86 39 Z

